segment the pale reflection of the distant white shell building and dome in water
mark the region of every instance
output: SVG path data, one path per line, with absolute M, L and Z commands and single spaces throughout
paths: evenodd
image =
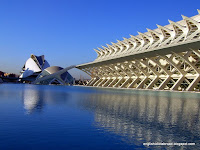
M 27 85 L 29 86 L 29 85 Z M 51 90 L 49 87 L 30 86 L 23 90 L 22 99 L 27 113 L 41 111 L 46 103 L 65 103 L 67 93 L 64 91 Z

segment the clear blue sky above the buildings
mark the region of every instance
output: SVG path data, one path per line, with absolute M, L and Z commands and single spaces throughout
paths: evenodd
M 19 73 L 31 54 L 51 66 L 91 62 L 94 48 L 197 9 L 200 0 L 0 0 L 0 70 Z

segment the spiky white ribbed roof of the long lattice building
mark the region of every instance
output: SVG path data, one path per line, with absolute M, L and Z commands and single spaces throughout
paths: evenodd
M 200 14 L 200 10 L 198 13 Z M 166 26 L 157 25 L 157 29 L 147 29 L 148 32 L 138 32 L 136 36 L 130 35 L 130 38 L 123 38 L 122 41 L 117 40 L 117 43 L 111 42 L 112 45 L 106 44 L 107 47 L 102 46 L 98 50 L 94 49 L 97 53 L 95 62 L 153 51 L 198 39 L 200 37 L 200 15 L 193 17 L 182 15 L 182 18 L 181 21 L 169 20 L 170 24 Z

